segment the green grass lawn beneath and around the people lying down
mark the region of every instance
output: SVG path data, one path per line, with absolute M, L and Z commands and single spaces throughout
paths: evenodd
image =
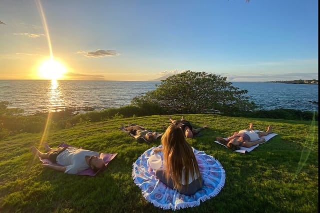
M 172 115 L 180 119 L 181 115 Z M 185 115 L 194 126 L 209 125 L 202 136 L 187 141 L 213 156 L 226 179 L 221 192 L 200 206 L 177 212 L 317 213 L 318 124 L 311 121 L 235 118 L 211 114 Z M 18 134 L 0 141 L 0 212 L 164 212 L 148 203 L 133 183 L 132 163 L 147 149 L 120 131 L 120 123 L 142 125 L 159 133 L 168 116 L 147 116 L 82 124 L 44 134 L 55 147 L 61 142 L 103 153 L 118 153 L 95 177 L 65 175 L 43 168 L 29 147 L 40 146 L 42 134 Z M 213 141 L 253 122 L 255 129 L 273 126 L 278 135 L 250 153 L 232 152 Z M 165 211 L 170 212 L 170 211 Z

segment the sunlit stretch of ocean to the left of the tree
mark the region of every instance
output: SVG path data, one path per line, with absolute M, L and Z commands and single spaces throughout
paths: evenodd
M 0 101 L 23 108 L 25 114 L 92 107 L 96 110 L 121 107 L 133 97 L 154 90 L 159 82 L 0 80 Z

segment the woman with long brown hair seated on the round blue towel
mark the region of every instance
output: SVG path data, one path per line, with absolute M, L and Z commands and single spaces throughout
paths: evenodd
M 193 195 L 202 187 L 200 171 L 192 147 L 186 142 L 182 130 L 171 124 L 161 137 L 163 168 L 155 176 L 165 185 L 184 195 Z

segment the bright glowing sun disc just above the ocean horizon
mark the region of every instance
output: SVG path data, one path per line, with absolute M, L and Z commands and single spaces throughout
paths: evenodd
M 38 67 L 39 76 L 44 79 L 62 79 L 66 71 L 66 67 L 54 59 L 43 61 Z

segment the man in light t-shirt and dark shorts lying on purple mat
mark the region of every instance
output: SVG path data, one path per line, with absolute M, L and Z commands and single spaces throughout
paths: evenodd
M 50 165 L 43 163 L 42 166 L 48 167 L 65 174 L 77 174 L 88 168 L 94 172 L 104 169 L 104 161 L 100 158 L 100 154 L 90 150 L 78 149 L 75 147 L 58 147 L 51 148 L 44 143 L 45 153 L 40 152 L 34 146 L 31 152 L 42 159 L 49 159 L 52 163 L 58 165 Z

